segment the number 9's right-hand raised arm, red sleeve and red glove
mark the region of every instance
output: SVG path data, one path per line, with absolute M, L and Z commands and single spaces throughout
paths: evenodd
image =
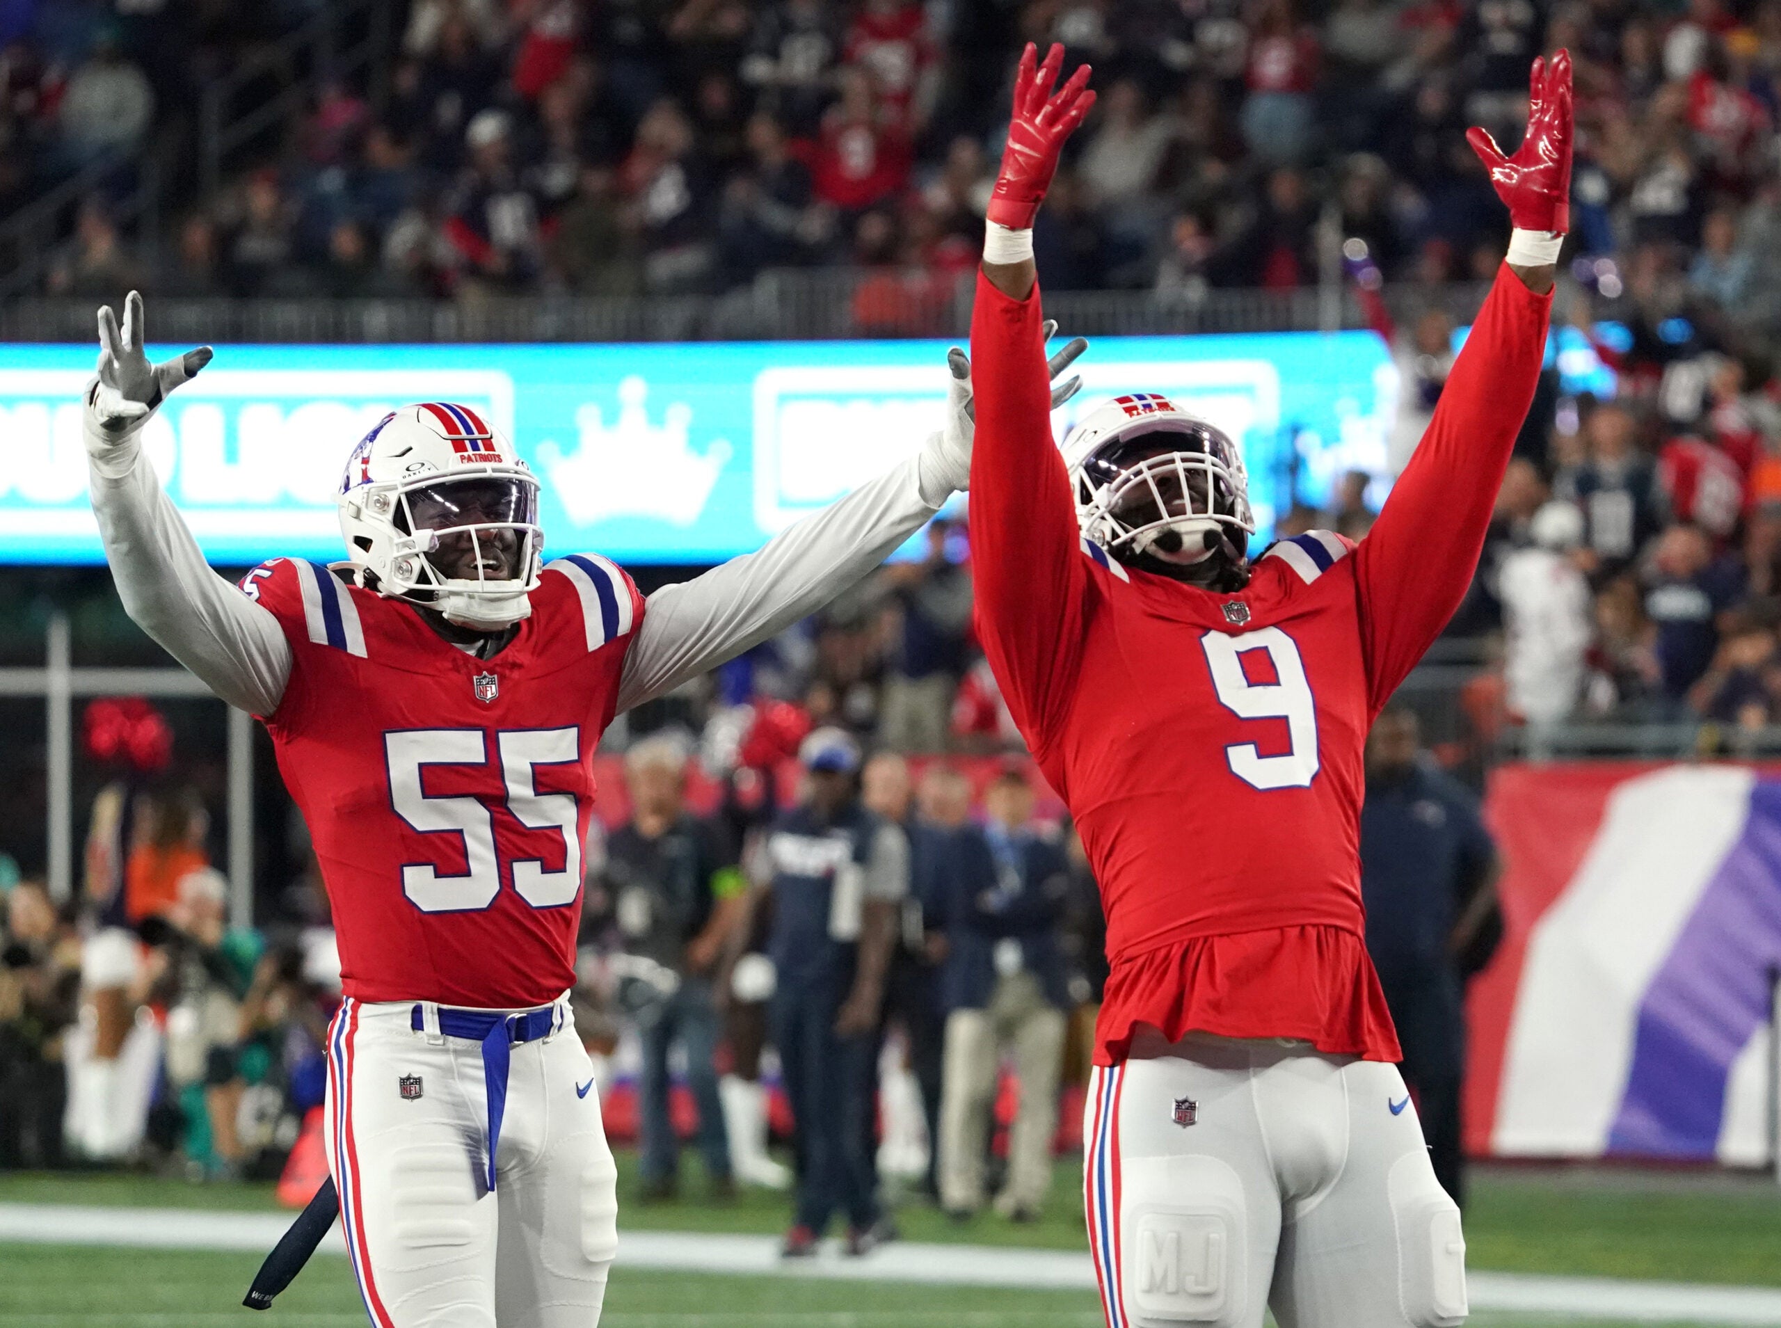
M 1355 550 L 1375 710 L 1416 668 L 1471 586 L 1503 470 L 1533 401 L 1569 224 L 1569 53 L 1560 50 L 1549 66 L 1533 62 L 1528 134 L 1514 157 L 1503 157 L 1484 130 L 1468 139 L 1516 230 L 1428 431 Z

